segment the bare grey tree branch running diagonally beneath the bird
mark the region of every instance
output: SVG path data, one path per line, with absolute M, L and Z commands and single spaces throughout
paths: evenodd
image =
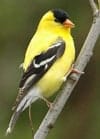
M 97 7 L 93 0 L 89 0 L 93 14 L 97 12 Z M 75 62 L 75 69 L 79 71 L 83 71 L 88 64 L 92 54 L 93 49 L 95 47 L 95 43 L 100 35 L 100 13 L 98 16 L 95 17 L 95 22 L 92 23 L 90 28 L 89 34 L 85 40 L 85 43 L 81 49 L 81 52 Z M 65 103 L 67 102 L 69 96 L 72 93 L 72 90 L 76 86 L 77 82 L 79 81 L 80 74 L 71 74 L 68 78 L 67 82 L 62 87 L 62 90 L 57 95 L 56 99 L 54 100 L 53 107 L 50 108 L 43 119 L 40 127 L 38 128 L 37 132 L 34 135 L 34 139 L 46 139 L 49 131 L 53 127 L 56 119 L 58 118 L 59 114 L 61 113 Z

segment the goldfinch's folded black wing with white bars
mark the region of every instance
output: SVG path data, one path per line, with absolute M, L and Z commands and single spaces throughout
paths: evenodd
M 27 71 L 24 72 L 19 88 L 30 89 L 49 70 L 53 63 L 63 55 L 64 50 L 65 42 L 60 39 L 52 44 L 46 52 L 35 56 Z

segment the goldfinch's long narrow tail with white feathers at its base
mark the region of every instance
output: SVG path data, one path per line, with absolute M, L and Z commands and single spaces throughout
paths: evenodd
M 34 92 L 35 91 L 35 92 Z M 39 94 L 38 91 L 36 89 L 34 89 L 34 91 L 30 91 L 26 96 L 24 96 L 24 98 L 21 100 L 21 102 L 17 105 L 11 120 L 9 122 L 9 126 L 6 130 L 6 135 L 10 134 L 13 129 L 14 126 L 20 116 L 20 114 L 33 102 L 35 102 L 37 99 L 39 99 Z

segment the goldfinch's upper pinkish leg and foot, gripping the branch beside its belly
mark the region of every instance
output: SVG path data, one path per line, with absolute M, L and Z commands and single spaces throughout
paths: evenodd
M 74 68 L 74 64 L 72 64 L 70 70 L 68 71 L 68 73 L 63 77 L 63 81 L 65 82 L 67 77 L 71 74 L 71 73 L 77 73 L 77 74 L 84 74 L 83 71 L 79 71 L 78 69 Z

